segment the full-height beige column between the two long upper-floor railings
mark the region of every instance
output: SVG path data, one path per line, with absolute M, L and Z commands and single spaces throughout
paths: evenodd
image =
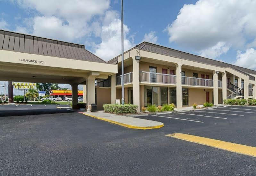
M 176 66 L 176 106 L 182 108 L 181 65 Z

